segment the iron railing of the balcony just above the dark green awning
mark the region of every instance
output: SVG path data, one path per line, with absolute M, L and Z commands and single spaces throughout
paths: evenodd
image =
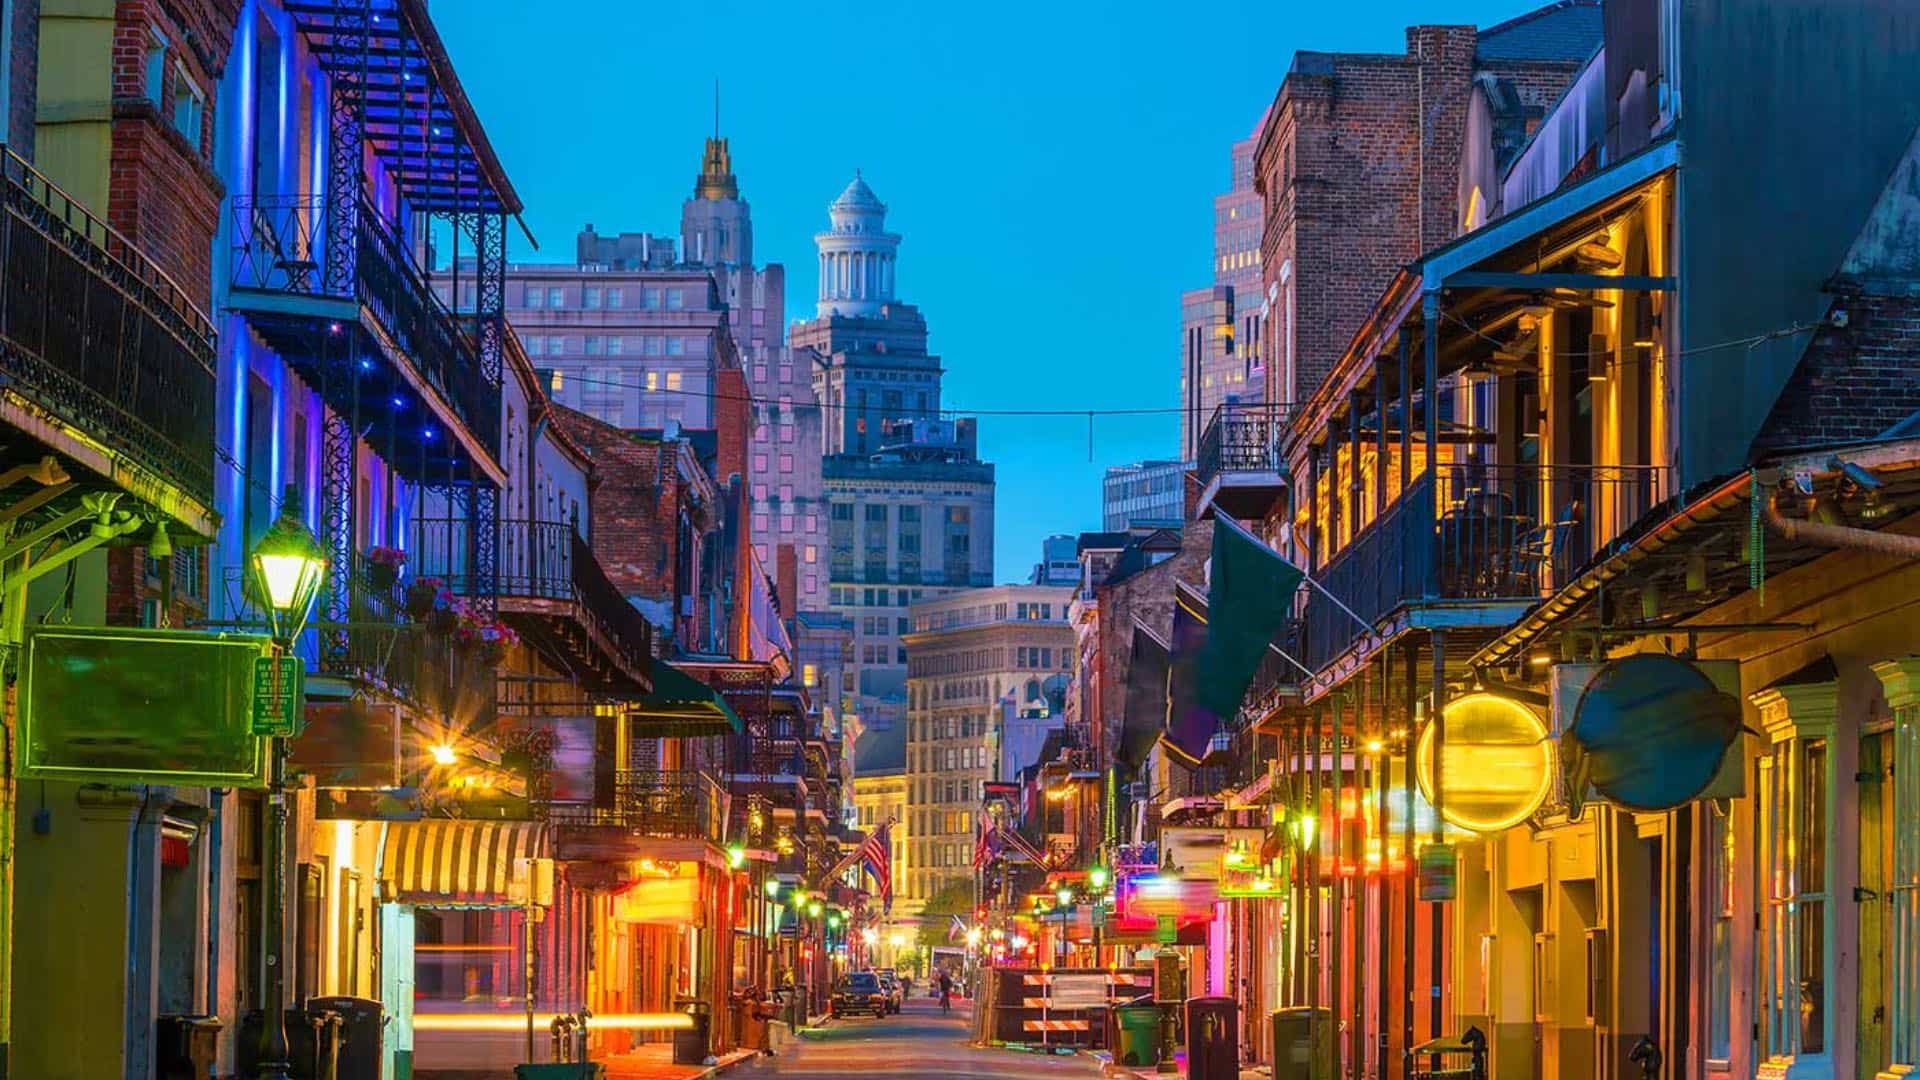
M 653 625 L 620 596 L 572 523 L 501 521 L 493 553 L 497 596 L 572 601 L 628 671 L 647 671 Z M 474 544 L 467 519 L 419 521 L 407 557 L 415 578 L 438 577 L 453 594 L 472 594 Z

